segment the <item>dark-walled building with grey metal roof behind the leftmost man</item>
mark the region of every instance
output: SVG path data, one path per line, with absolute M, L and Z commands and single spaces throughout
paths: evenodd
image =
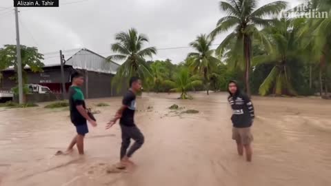
M 27 74 L 26 83 L 43 85 L 49 87 L 54 94 L 61 94 L 63 90 L 61 86 L 61 63 L 59 56 L 58 59 L 58 63 L 53 59 L 53 63 L 50 64 L 46 58 L 46 65 L 43 67 L 43 72 L 34 73 L 30 68 L 25 68 Z M 66 92 L 68 92 L 71 85 L 70 74 L 74 70 L 78 70 L 85 78 L 85 84 L 82 90 L 87 99 L 117 96 L 121 92 L 118 93 L 116 91 L 117 89 L 112 87 L 111 82 L 119 66 L 119 64 L 108 61 L 100 54 L 82 48 L 66 59 L 63 65 Z M 16 86 L 15 81 L 10 78 L 16 76 L 13 68 L 3 70 L 2 74 L 1 90 L 10 90 Z

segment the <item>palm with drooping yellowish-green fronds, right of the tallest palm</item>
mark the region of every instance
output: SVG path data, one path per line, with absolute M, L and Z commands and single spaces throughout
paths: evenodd
M 259 88 L 262 96 L 270 93 L 270 90 L 277 95 L 297 95 L 291 83 L 289 62 L 299 59 L 301 51 L 297 35 L 304 24 L 304 19 L 282 18 L 274 26 L 263 30 L 270 37 L 274 48 L 269 54 L 254 56 L 253 65 L 273 63 L 274 68 Z

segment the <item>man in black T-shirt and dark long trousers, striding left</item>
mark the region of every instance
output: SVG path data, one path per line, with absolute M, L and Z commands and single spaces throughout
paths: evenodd
M 132 163 L 129 158 L 143 145 L 144 137 L 141 134 L 139 128 L 134 123 L 134 111 L 136 110 L 136 94 L 141 90 L 141 80 L 137 77 L 130 79 L 130 90 L 123 96 L 122 106 L 117 111 L 115 118 L 113 118 L 106 129 L 109 129 L 119 120 L 122 132 L 122 144 L 121 144 L 121 166 L 119 168 L 125 168 L 127 163 Z M 134 140 L 134 144 L 130 147 L 131 138 Z

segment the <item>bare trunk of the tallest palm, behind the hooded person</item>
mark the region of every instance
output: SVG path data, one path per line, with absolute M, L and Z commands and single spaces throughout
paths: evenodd
M 245 89 L 248 97 L 250 97 L 250 37 L 243 36 L 243 53 L 245 57 Z

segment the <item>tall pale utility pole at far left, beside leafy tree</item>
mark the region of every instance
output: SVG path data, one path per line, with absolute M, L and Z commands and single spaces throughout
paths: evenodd
M 23 81 L 22 81 L 22 61 L 21 61 L 21 44 L 19 43 L 19 10 L 15 7 L 16 23 L 16 57 L 17 57 L 17 76 L 19 76 L 19 104 L 23 104 Z

